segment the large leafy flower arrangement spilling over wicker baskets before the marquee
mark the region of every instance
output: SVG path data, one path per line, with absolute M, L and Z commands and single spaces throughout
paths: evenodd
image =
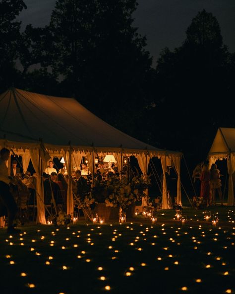
M 136 175 L 128 180 L 127 177 L 112 174 L 105 180 L 96 179 L 91 189 L 91 196 L 95 199 L 95 202 L 125 209 L 128 205 L 145 196 L 145 190 L 149 185 L 149 177 L 143 175 Z

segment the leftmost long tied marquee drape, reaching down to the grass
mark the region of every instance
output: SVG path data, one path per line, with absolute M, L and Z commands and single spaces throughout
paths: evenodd
M 30 150 L 30 157 L 32 160 L 33 168 L 37 174 L 37 222 L 46 224 L 45 218 L 45 207 L 44 207 L 44 190 L 43 190 L 43 180 L 42 173 L 44 166 L 42 166 L 42 159 L 40 157 L 40 150 L 33 149 Z

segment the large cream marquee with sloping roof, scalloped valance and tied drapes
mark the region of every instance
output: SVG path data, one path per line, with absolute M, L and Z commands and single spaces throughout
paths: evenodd
M 174 162 L 178 174 L 177 203 L 181 203 L 181 152 L 159 149 L 136 140 L 84 108 L 73 98 L 62 98 L 10 88 L 0 95 L 0 148 L 7 147 L 22 156 L 24 171 L 31 159 L 37 181 L 37 221 L 45 223 L 42 172 L 48 154 L 65 159 L 68 174 L 79 166 L 82 156 L 94 172 L 95 154 L 114 154 L 118 169 L 123 156 L 137 157 L 141 171 L 147 174 L 150 158 L 161 159 L 163 172 L 168 160 Z M 163 179 L 163 208 L 169 208 L 166 177 Z M 67 214 L 73 212 L 71 178 L 68 182 Z

